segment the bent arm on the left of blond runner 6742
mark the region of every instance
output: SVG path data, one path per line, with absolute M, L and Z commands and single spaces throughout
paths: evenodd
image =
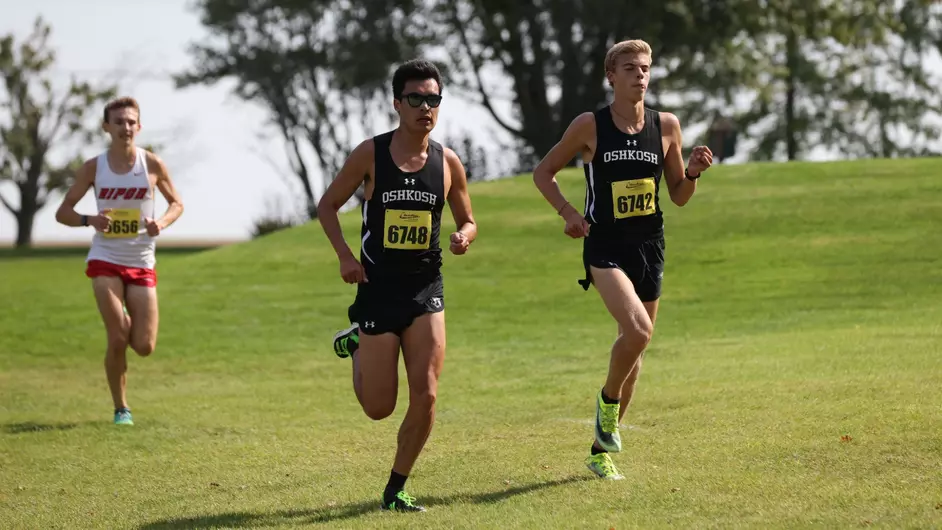
M 586 149 L 588 139 L 594 135 L 595 116 L 591 112 L 584 112 L 576 116 L 563 137 L 546 153 L 543 160 L 537 164 L 533 170 L 533 183 L 543 194 L 543 197 L 553 206 L 556 213 L 564 216 L 563 209 L 568 205 L 575 210 L 562 190 L 559 189 L 559 183 L 556 181 L 556 174 L 559 173 L 570 160 Z M 576 210 L 576 213 L 579 213 Z M 581 214 L 580 214 L 581 215 Z

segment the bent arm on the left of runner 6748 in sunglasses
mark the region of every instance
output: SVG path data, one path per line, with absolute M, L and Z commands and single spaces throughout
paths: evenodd
M 343 229 L 340 228 L 340 217 L 337 212 L 350 200 L 363 180 L 370 174 L 373 166 L 373 149 L 373 140 L 365 140 L 356 146 L 344 161 L 337 177 L 327 186 L 320 202 L 317 203 L 317 219 L 341 261 L 347 258 L 356 259 L 356 256 L 353 255 L 353 251 L 343 238 Z

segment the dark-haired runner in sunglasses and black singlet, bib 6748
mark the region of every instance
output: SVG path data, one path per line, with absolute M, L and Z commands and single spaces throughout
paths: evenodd
M 351 326 L 334 336 L 334 352 L 353 358 L 353 388 L 367 416 L 383 419 L 396 407 L 399 351 L 409 380 L 409 410 L 399 430 L 383 508 L 425 508 L 405 482 L 435 418 L 445 358 L 445 301 L 441 275 L 442 210 L 447 201 L 458 230 L 450 250 L 464 254 L 477 237 L 464 166 L 451 149 L 429 139 L 438 120 L 441 74 L 414 60 L 393 75 L 399 126 L 364 141 L 324 192 L 318 217 L 340 259 L 340 275 L 357 284 Z M 337 212 L 365 185 L 360 259 L 344 241 Z

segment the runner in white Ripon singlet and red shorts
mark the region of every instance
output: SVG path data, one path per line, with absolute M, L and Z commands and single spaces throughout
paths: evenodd
M 92 279 L 108 335 L 105 373 L 114 422 L 133 425 L 126 396 L 127 348 L 146 357 L 157 345 L 156 238 L 180 217 L 183 203 L 163 161 L 134 145 L 141 130 L 140 107 L 134 99 L 121 98 L 105 106 L 102 128 L 111 136 L 111 146 L 78 170 L 56 220 L 95 229 L 85 274 Z M 98 214 L 80 215 L 75 205 L 89 188 L 95 191 Z M 155 188 L 169 206 L 160 218 L 154 211 Z

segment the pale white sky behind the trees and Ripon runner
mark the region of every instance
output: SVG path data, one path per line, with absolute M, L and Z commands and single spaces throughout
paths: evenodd
M 291 179 L 297 179 L 287 169 L 277 134 L 259 140 L 259 134 L 269 131 L 264 111 L 231 95 L 232 83 L 182 91 L 173 87 L 169 74 L 192 64 L 187 45 L 206 35 L 188 5 L 188 0 L 3 0 L 0 35 L 12 32 L 17 39 L 25 38 L 42 16 L 52 27 L 50 42 L 57 53 L 54 82 L 65 87 L 75 74 L 93 82 L 118 83 L 123 94 L 138 100 L 138 143 L 166 146 L 157 154 L 167 163 L 185 206 L 162 239 L 244 240 L 254 219 L 279 205 L 287 207 L 297 193 Z M 496 145 L 493 138 L 501 136 L 486 111 L 447 103 L 440 108 L 433 137 L 440 140 L 460 124 L 485 147 Z M 83 156 L 94 156 L 104 147 L 90 147 Z M 12 183 L 0 184 L 0 193 L 18 205 L 15 191 Z M 157 197 L 157 209 L 163 211 L 166 202 L 159 193 Z M 57 196 L 37 216 L 34 242 L 90 241 L 88 229 L 56 223 L 60 200 Z M 94 213 L 91 191 L 76 210 Z M 0 206 L 0 246 L 15 238 L 16 220 Z

